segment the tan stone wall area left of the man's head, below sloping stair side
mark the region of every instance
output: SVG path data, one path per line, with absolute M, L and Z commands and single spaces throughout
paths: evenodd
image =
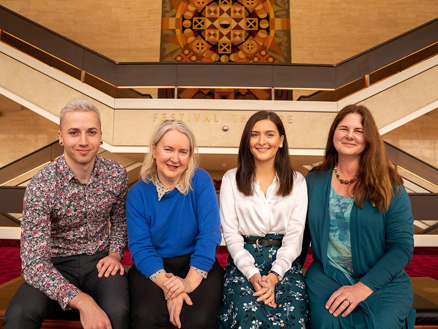
M 55 141 L 57 131 L 57 124 L 29 109 L 8 111 L 2 108 L 0 167 Z

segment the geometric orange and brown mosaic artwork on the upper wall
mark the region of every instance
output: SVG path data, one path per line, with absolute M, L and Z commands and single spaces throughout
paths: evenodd
M 160 61 L 290 63 L 289 0 L 163 0 Z

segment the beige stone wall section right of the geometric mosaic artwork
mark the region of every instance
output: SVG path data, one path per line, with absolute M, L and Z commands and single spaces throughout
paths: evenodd
M 335 64 L 437 17 L 436 0 L 291 0 L 292 63 Z

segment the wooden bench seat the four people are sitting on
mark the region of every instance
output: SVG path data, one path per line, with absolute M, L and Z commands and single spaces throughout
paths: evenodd
M 414 288 L 414 308 L 417 310 L 415 329 L 438 329 L 438 281 L 426 277 L 411 278 Z M 24 282 L 22 277 L 0 285 L 0 329 L 3 329 L 4 313 L 18 287 Z M 61 312 L 43 322 L 43 329 L 82 329 L 76 310 Z

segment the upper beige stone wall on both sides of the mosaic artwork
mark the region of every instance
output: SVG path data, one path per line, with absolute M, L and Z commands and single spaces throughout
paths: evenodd
M 159 61 L 162 1 L 2 0 L 116 61 Z M 436 0 L 290 2 L 292 62 L 334 64 L 437 16 Z

